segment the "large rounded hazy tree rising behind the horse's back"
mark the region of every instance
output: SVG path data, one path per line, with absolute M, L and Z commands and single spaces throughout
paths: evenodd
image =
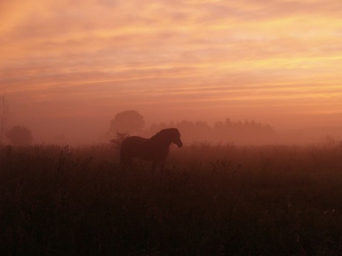
M 135 110 L 127 110 L 116 114 L 114 119 L 110 121 L 108 134 L 139 134 L 144 127 L 144 117 Z

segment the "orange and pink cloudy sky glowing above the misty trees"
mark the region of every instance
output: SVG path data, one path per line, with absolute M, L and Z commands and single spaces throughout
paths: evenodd
M 0 94 L 36 142 L 146 125 L 342 127 L 340 0 L 0 2 Z

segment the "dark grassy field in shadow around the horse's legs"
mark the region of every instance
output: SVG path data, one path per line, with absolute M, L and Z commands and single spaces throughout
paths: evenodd
M 342 144 L 0 146 L 1 255 L 341 255 Z

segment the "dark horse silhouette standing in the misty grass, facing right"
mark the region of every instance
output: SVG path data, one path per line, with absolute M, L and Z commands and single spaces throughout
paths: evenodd
M 152 171 L 157 164 L 164 168 L 165 160 L 169 154 L 169 146 L 174 143 L 181 147 L 180 132 L 177 128 L 162 129 L 150 139 L 138 136 L 128 137 L 123 140 L 120 149 L 120 166 L 126 169 L 132 166 L 135 157 L 152 161 Z

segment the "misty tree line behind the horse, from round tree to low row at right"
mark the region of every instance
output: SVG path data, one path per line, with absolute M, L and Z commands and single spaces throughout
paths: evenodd
M 202 120 L 195 122 L 182 120 L 179 122 L 155 123 L 146 128 L 144 117 L 135 110 L 116 114 L 114 119 L 110 121 L 107 134 L 111 139 L 125 137 L 127 134 L 151 137 L 161 129 L 169 127 L 177 127 L 187 142 L 263 142 L 275 134 L 273 127 L 269 124 L 261 124 L 254 120 L 232 121 L 229 118 L 224 122 L 215 122 L 214 125 L 209 125 Z

